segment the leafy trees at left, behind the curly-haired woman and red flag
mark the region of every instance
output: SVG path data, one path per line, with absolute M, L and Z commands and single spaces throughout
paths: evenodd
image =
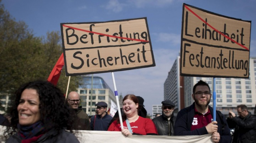
M 0 95 L 14 95 L 21 84 L 47 80 L 59 59 L 60 33 L 47 32 L 45 38 L 35 37 L 32 32 L 23 21 L 15 21 L 0 4 Z M 76 91 L 81 81 L 80 76 L 72 77 L 69 91 Z M 63 93 L 67 83 L 63 69 L 57 84 Z

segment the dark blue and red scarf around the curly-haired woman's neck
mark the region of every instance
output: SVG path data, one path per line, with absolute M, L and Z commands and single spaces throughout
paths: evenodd
M 40 134 L 45 133 L 44 124 L 41 121 L 36 122 L 30 126 L 22 126 L 18 124 L 17 128 L 19 130 L 18 135 L 22 139 L 30 139 L 34 136 L 38 136 Z

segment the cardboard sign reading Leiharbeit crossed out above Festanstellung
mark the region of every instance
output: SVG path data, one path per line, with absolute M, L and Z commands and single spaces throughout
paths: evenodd
M 249 78 L 251 21 L 183 4 L 180 75 Z

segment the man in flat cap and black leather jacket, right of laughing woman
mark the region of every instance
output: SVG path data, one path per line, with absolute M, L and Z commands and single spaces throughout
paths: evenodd
M 174 110 L 175 104 L 170 100 L 162 102 L 162 115 L 153 119 L 157 127 L 158 135 L 173 136 L 174 132 Z

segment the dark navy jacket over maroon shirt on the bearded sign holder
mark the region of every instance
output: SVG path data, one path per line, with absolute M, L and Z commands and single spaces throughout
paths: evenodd
M 213 115 L 213 109 L 211 106 L 208 106 L 210 109 L 211 115 Z M 195 102 L 178 112 L 175 124 L 174 124 L 174 135 L 175 136 L 187 136 L 187 135 L 205 135 L 208 134 L 206 127 L 197 128 L 196 130 L 191 131 L 191 125 L 195 115 Z M 221 117 L 216 114 L 216 121 L 218 122 L 218 133 L 221 136 L 219 143 L 231 143 L 232 137 L 230 135 L 230 129 L 227 126 L 226 118 L 221 114 L 224 126 L 222 130 Z M 224 118 L 223 118 L 224 117 Z

